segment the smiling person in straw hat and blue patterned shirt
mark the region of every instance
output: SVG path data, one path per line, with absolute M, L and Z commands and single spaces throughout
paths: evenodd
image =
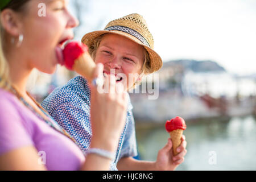
M 89 47 L 94 61 L 104 65 L 104 75 L 115 75 L 116 82 L 122 83 L 127 90 L 134 88 L 143 75 L 162 67 L 162 59 L 153 49 L 152 35 L 139 14 L 112 20 L 104 30 L 84 35 L 82 42 Z M 127 79 L 130 74 L 133 74 L 133 80 Z M 62 88 L 53 90 L 42 105 L 75 138 L 82 150 L 88 150 L 93 136 L 90 89 L 83 77 L 75 77 Z M 172 155 L 172 142 L 168 139 L 155 162 L 135 160 L 137 143 L 130 101 L 127 108 L 126 124 L 119 137 L 111 170 L 173 170 L 183 162 L 187 152 L 184 136 L 176 156 Z

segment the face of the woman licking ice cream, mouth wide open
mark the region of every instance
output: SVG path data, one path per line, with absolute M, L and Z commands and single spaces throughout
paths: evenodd
M 39 6 L 46 5 L 46 6 Z M 39 16 L 39 12 L 46 16 Z M 18 17 L 18 35 L 24 39 L 17 53 L 27 69 L 37 68 L 45 73 L 53 73 L 57 64 L 57 53 L 65 40 L 73 38 L 73 27 L 78 20 L 67 9 L 65 0 L 33 0 L 26 4 L 24 12 Z M 13 29 L 14 29 L 13 28 Z M 7 31 L 10 37 L 18 35 Z M 15 45 L 10 46 L 14 49 Z M 22 54 L 20 54 L 22 52 Z M 18 60 L 17 60 L 18 61 Z

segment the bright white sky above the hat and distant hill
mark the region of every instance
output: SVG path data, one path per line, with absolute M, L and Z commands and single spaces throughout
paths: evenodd
M 87 0 L 77 39 L 139 13 L 163 61 L 213 60 L 230 73 L 256 73 L 256 0 Z

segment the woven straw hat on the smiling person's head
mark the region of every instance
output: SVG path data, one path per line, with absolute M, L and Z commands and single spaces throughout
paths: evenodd
M 136 16 L 135 18 L 137 18 L 137 19 L 142 18 L 142 16 L 140 16 L 138 14 L 131 14 L 131 15 L 127 15 L 127 16 L 133 17 L 133 15 Z M 127 16 L 125 16 L 123 18 L 126 18 Z M 117 20 L 119 20 L 119 21 L 117 21 Z M 123 20 L 123 19 L 121 19 L 121 20 L 117 19 L 117 20 L 113 20 L 112 22 L 109 22 L 108 25 L 105 27 L 105 30 L 93 31 L 93 32 L 89 32 L 88 34 L 85 34 L 82 38 L 82 43 L 86 44 L 88 47 L 91 47 L 94 45 L 94 40 L 98 36 L 101 36 L 103 34 L 117 34 L 117 35 L 125 36 L 127 39 L 133 40 L 133 42 L 143 46 L 146 49 L 146 51 L 148 52 L 148 55 L 150 57 L 150 73 L 158 71 L 162 67 L 163 61 L 162 61 L 161 57 L 158 55 L 158 53 L 156 53 L 153 49 L 154 48 L 154 40 L 152 39 L 152 35 L 148 31 L 147 27 L 144 26 L 144 24 L 143 24 L 144 27 L 140 27 L 142 23 L 133 23 L 130 21 L 131 23 L 129 22 L 130 24 L 127 25 L 127 24 L 125 24 L 126 23 L 125 20 Z M 137 37 L 135 37 L 127 32 L 124 32 L 122 30 L 121 31 L 120 30 L 106 30 L 106 28 L 108 29 L 109 27 L 111 28 L 113 26 L 129 28 L 132 31 L 135 30 L 134 32 L 136 32 L 136 34 L 138 33 L 138 35 L 141 36 L 142 40 L 144 40 L 144 41 L 139 40 Z M 149 36 L 147 36 L 147 35 L 149 35 Z

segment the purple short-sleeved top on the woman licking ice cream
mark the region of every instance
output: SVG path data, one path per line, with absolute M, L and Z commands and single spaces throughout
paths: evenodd
M 79 170 L 85 157 L 71 139 L 38 118 L 13 94 L 0 88 L 0 155 L 34 146 L 48 170 Z

